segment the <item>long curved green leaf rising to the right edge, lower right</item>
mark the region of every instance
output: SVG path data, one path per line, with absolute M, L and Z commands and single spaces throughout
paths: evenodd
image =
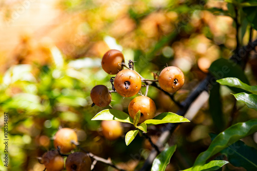
M 232 143 L 244 138 L 257 131 L 257 119 L 252 119 L 247 122 L 237 123 L 230 126 L 227 130 L 219 133 L 211 142 L 209 148 L 199 154 L 194 166 L 203 165 L 210 157 L 221 152 L 224 148 Z

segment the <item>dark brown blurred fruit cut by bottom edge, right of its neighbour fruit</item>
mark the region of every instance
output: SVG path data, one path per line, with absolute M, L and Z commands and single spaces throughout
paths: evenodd
M 90 171 L 91 164 L 90 157 L 82 152 L 70 154 L 65 162 L 67 171 Z

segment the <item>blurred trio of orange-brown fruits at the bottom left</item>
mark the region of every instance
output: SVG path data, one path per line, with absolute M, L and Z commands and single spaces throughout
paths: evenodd
M 41 163 L 45 165 L 47 171 L 61 171 L 64 169 L 64 158 L 67 171 L 91 170 L 91 159 L 86 153 L 75 152 L 69 155 L 72 149 L 78 144 L 78 137 L 74 130 L 69 128 L 60 129 L 53 140 L 56 150 L 51 150 L 43 154 Z

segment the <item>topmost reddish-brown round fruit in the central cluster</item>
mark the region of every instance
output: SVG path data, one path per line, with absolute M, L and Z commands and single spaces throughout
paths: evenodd
M 124 62 L 122 52 L 112 49 L 103 55 L 102 68 L 108 74 L 117 74 L 122 70 L 122 62 Z

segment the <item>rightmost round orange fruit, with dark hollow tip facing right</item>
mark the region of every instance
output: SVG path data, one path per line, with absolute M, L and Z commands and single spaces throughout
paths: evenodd
M 159 75 L 159 84 L 162 90 L 175 93 L 183 86 L 185 77 L 183 72 L 177 67 L 166 67 Z

